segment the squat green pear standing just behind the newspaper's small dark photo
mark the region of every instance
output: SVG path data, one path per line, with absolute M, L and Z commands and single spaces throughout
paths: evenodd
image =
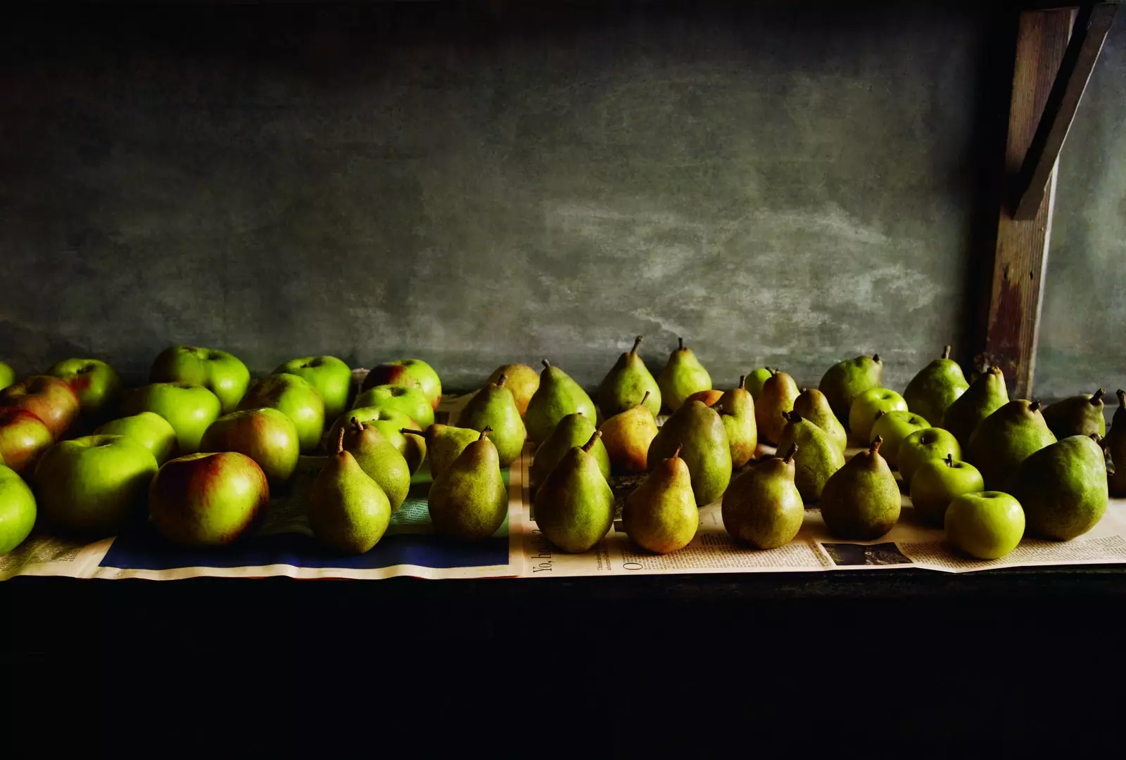
M 821 491 L 829 533 L 846 541 L 875 541 L 900 519 L 900 487 L 879 455 L 883 438 L 848 461 Z

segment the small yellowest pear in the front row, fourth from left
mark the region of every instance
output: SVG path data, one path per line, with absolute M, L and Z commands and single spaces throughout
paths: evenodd
M 668 554 L 683 549 L 700 523 L 692 480 L 678 449 L 658 463 L 641 486 L 626 497 L 622 524 L 642 549 Z

